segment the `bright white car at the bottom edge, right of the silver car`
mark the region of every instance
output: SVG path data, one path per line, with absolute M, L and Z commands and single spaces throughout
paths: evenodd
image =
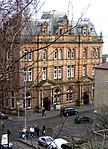
M 66 149 L 64 147 L 66 147 L 67 144 L 68 141 L 62 138 L 57 138 L 48 146 L 48 149 Z

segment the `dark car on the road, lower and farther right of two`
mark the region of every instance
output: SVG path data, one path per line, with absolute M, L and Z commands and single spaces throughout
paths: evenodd
M 75 117 L 74 121 L 77 124 L 93 122 L 93 120 L 89 116 L 77 116 Z

